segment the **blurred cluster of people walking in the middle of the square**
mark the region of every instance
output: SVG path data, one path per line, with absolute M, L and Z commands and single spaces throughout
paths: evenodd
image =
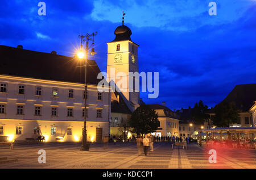
M 136 141 L 137 141 L 139 156 L 142 155 L 143 150 L 144 150 L 145 156 L 147 156 L 149 150 L 150 152 L 153 152 L 155 137 L 150 135 L 150 133 L 148 133 L 148 135 L 145 135 L 143 139 L 142 139 L 142 136 L 138 136 Z

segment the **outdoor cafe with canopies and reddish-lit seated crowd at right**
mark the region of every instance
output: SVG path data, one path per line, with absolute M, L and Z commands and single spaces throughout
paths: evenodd
M 198 130 L 197 142 L 200 146 L 223 146 L 256 149 L 256 128 L 229 127 Z

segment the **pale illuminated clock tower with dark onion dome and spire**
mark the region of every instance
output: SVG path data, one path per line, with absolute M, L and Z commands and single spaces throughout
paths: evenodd
M 135 78 L 130 77 L 129 72 L 138 72 L 139 45 L 131 41 L 131 30 L 123 24 L 115 29 L 114 34 L 115 39 L 107 43 L 109 81 L 114 81 L 127 101 L 137 106 L 139 90 L 135 90 Z

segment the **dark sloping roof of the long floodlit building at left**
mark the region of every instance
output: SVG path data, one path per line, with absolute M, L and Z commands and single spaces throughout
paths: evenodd
M 0 74 L 64 82 L 85 82 L 85 68 L 77 57 L 29 51 L 0 45 Z M 93 60 L 87 61 L 86 82 L 97 85 L 100 69 Z M 84 65 L 84 62 L 81 62 Z M 81 68 L 81 73 L 80 73 Z M 81 78 L 80 78 L 81 74 Z

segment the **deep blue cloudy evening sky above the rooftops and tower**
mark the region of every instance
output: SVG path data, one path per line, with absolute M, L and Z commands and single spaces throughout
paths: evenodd
M 256 1 L 216 0 L 217 16 L 210 16 L 211 1 L 44 0 L 46 16 L 39 16 L 40 1 L 1 0 L 0 44 L 73 56 L 78 35 L 97 31 L 93 59 L 106 72 L 106 43 L 125 11 L 131 40 L 140 45 L 139 72 L 159 72 L 159 97 L 141 93 L 143 101 L 214 106 L 234 86 L 256 82 Z

